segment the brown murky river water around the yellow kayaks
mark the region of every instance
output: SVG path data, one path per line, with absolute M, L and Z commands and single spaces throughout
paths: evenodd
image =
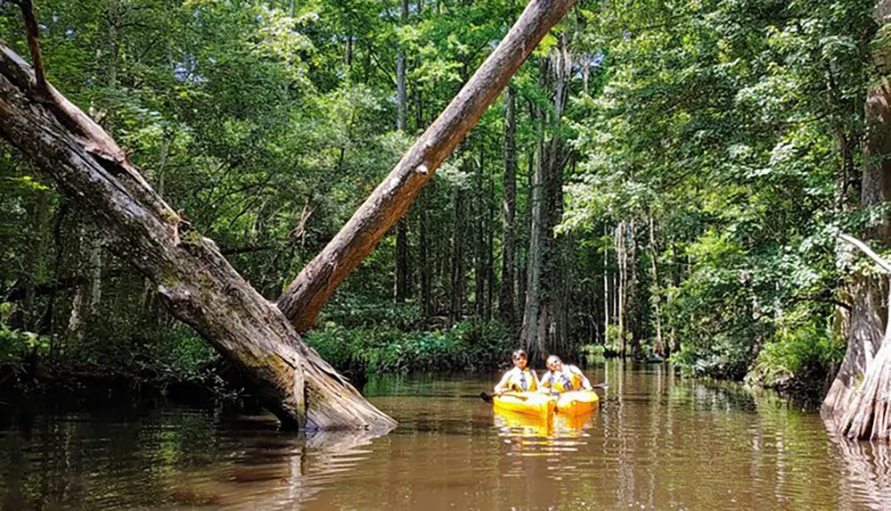
M 838 441 L 813 412 L 661 366 L 588 375 L 609 383 L 601 409 L 551 426 L 474 397 L 497 375 L 370 383 L 400 421 L 377 438 L 178 407 L 17 417 L 0 507 L 891 508 L 888 446 Z

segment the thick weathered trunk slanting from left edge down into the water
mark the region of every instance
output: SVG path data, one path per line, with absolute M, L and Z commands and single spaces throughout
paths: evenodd
M 174 316 L 239 367 L 282 424 L 387 430 L 396 423 L 302 342 L 151 189 L 102 128 L 0 44 L 0 135 L 94 214 L 111 250 L 158 286 Z

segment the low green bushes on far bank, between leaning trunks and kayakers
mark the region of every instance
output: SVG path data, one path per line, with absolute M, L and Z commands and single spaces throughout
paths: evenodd
M 515 348 L 502 326 L 471 321 L 429 332 L 329 323 L 308 333 L 307 342 L 334 367 L 372 375 L 483 370 L 510 360 Z

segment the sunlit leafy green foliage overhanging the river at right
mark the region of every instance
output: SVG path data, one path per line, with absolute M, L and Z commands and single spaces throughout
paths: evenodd
M 629 236 L 648 252 L 629 263 L 641 282 L 631 299 L 650 307 L 628 311 L 625 324 L 636 319 L 635 337 L 652 339 L 658 304 L 684 371 L 741 379 L 763 347 L 769 358 L 792 345 L 770 340 L 801 314 L 830 317 L 819 301 L 843 277 L 835 233 L 881 221 L 842 212 L 859 199 L 842 172 L 863 163 L 852 148 L 870 46 L 882 44 L 871 4 L 587 8 L 605 77 L 571 120 L 585 157 L 560 231 L 593 237 L 651 220 L 655 250 L 645 234 Z M 795 305 L 813 297 L 804 313 Z

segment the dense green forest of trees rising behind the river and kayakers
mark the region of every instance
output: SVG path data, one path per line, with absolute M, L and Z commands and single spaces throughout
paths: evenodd
M 36 13 L 48 79 L 275 300 L 524 6 L 43 0 Z M 864 112 L 888 45 L 873 8 L 580 1 L 310 343 L 353 376 L 489 368 L 523 345 L 819 395 L 846 352 L 852 278 L 874 273 L 838 234 L 888 241 L 885 199 L 867 199 L 882 160 Z M 19 8 L 0 14 L 27 55 Z M 12 374 L 217 377 L 212 350 L 11 145 L 0 186 Z

